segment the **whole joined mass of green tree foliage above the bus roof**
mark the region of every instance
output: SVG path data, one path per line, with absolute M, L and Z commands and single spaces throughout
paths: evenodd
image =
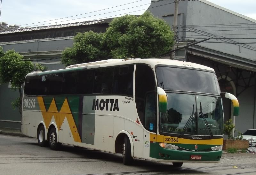
M 72 47 L 62 52 L 66 66 L 114 58 L 160 57 L 173 45 L 173 32 L 150 12 L 113 19 L 105 33 L 78 33 Z

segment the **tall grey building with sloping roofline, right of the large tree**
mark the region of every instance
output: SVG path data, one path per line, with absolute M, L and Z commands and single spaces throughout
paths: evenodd
M 172 26 L 174 3 L 151 0 L 148 10 Z M 229 92 L 239 100 L 236 129 L 243 133 L 256 128 L 256 20 L 206 0 L 186 0 L 179 3 L 176 30 L 178 47 L 210 38 L 179 50 L 175 59 L 212 67 L 221 91 Z M 224 120 L 234 119 L 230 100 L 223 99 L 223 105 Z

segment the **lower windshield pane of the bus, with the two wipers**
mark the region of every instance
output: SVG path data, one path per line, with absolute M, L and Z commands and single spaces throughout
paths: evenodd
M 220 97 L 167 93 L 167 98 L 167 111 L 160 114 L 160 132 L 223 135 Z

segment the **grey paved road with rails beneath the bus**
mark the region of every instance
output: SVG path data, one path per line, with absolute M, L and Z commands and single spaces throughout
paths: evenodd
M 62 145 L 60 151 L 37 146 L 35 138 L 0 134 L 0 175 L 102 175 L 102 174 L 256 174 L 256 155 L 223 154 L 220 163 L 171 163 L 134 159 L 132 166 L 122 163 L 122 156 Z M 237 168 L 236 168 L 237 167 Z

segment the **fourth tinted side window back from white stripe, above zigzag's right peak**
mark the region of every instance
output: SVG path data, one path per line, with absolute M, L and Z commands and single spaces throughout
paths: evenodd
M 77 72 L 64 73 L 62 94 L 76 94 Z

